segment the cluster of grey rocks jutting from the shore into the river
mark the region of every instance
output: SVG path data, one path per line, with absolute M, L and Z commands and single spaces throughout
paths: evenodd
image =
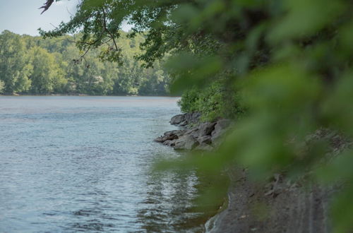
M 221 136 L 227 131 L 231 121 L 217 119 L 213 122 L 201 122 L 198 112 L 179 114 L 170 120 L 170 124 L 179 126 L 179 130 L 167 131 L 155 139 L 174 150 L 213 150 L 220 143 Z

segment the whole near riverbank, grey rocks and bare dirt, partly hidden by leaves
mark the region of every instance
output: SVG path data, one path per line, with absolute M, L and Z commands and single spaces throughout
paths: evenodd
M 203 145 L 201 138 L 205 137 L 203 129 L 208 129 L 206 136 L 210 144 L 205 149 L 217 148 L 212 138 L 217 125 L 224 119 L 201 124 L 198 118 L 193 114 L 173 117 L 170 123 L 181 129 L 168 131 L 156 141 L 176 150 L 179 150 L 179 144 L 184 145 L 184 150 L 198 150 Z M 222 131 L 220 135 L 227 131 L 227 126 Z M 340 134 L 325 129 L 316 131 L 310 138 L 330 142 L 328 156 L 335 156 L 352 146 L 352 142 Z M 186 143 L 181 143 L 184 141 Z M 290 179 L 285 172 L 273 174 L 263 182 L 253 181 L 244 168 L 233 168 L 228 174 L 227 206 L 205 223 L 206 232 L 332 232 L 330 200 L 339 190 L 338 186 L 321 186 L 306 176 Z

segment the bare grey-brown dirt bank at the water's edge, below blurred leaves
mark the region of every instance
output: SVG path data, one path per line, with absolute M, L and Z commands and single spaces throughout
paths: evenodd
M 264 186 L 246 173 L 232 172 L 228 207 L 208 221 L 208 232 L 330 232 L 328 203 L 333 189 L 286 184 L 280 176 Z

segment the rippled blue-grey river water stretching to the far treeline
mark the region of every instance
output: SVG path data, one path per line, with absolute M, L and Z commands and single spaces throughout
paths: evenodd
M 0 97 L 0 232 L 199 232 L 193 172 L 153 139 L 173 97 Z

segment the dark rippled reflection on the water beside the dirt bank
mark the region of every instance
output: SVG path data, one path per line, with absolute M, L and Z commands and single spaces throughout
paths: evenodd
M 194 231 L 202 229 L 195 221 L 201 213 L 190 212 L 193 208 L 191 200 L 197 194 L 194 187 L 198 183 L 195 174 L 164 172 L 152 174 L 149 178 L 150 189 L 143 202 L 148 208 L 141 209 L 138 215 L 144 229 L 148 232 L 157 232 L 162 225 L 165 230 L 179 231 L 185 229 L 190 222 L 194 222 L 194 225 L 187 229 Z

